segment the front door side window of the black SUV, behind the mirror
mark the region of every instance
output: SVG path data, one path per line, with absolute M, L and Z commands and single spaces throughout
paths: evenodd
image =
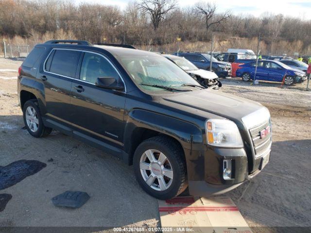
M 119 81 L 117 71 L 104 57 L 86 52 L 81 66 L 80 79 L 95 84 L 97 78 L 104 77 L 113 77 Z

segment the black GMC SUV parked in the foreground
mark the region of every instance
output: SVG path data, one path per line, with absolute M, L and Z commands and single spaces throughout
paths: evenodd
M 229 191 L 268 163 L 271 121 L 261 104 L 203 88 L 153 52 L 86 41 L 38 44 L 18 69 L 28 132 L 52 128 L 134 166 L 150 195 Z

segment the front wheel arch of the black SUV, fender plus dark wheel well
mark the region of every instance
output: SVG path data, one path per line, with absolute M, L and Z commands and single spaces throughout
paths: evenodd
M 202 132 L 194 124 L 172 116 L 137 109 L 129 114 L 125 126 L 124 162 L 132 165 L 133 155 L 138 145 L 157 135 L 172 138 L 184 152 L 185 149 L 204 150 Z

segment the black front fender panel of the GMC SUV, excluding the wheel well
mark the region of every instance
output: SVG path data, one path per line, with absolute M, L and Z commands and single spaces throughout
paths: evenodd
M 148 110 L 134 109 L 129 113 L 126 122 L 124 138 L 124 150 L 131 150 L 131 138 L 137 128 L 145 128 L 163 133 L 175 138 L 184 149 L 205 150 L 202 130 L 190 122 L 174 118 L 172 116 L 158 114 Z

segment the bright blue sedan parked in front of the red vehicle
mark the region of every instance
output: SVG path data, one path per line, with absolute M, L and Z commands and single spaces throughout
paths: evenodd
M 236 76 L 242 77 L 242 80 L 247 82 L 254 80 L 256 61 L 240 65 L 237 69 Z M 256 72 L 256 80 L 282 82 L 285 76 L 284 83 L 292 85 L 294 83 L 302 83 L 306 78 L 306 73 L 293 69 L 281 62 L 272 60 L 259 60 Z

